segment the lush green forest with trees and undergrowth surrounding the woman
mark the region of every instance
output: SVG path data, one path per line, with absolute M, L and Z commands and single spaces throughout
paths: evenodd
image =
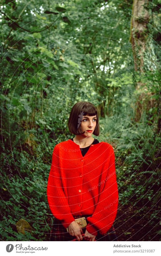
M 46 187 L 72 106 L 112 145 L 119 241 L 160 241 L 160 0 L 1 0 L 1 241 L 49 241 Z

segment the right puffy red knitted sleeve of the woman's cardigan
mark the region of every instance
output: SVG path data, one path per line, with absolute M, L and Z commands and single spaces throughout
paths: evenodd
M 97 235 L 105 234 L 112 226 L 118 208 L 118 187 L 115 172 L 115 155 L 111 146 L 110 158 L 105 165 L 107 168 L 106 179 L 102 193 L 99 195 L 98 203 L 92 216 L 88 217 L 89 223 L 86 229 L 89 233 Z

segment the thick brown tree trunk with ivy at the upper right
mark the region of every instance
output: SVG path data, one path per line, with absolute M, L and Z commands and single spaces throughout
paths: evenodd
M 148 115 L 148 111 L 153 106 L 147 84 L 142 81 L 147 65 L 145 53 L 151 52 L 148 46 L 150 40 L 148 24 L 151 20 L 150 5 L 151 1 L 133 0 L 130 42 L 134 57 L 134 69 L 140 72 L 140 81 L 137 80 L 136 82 L 135 122 L 140 122 L 143 113 Z

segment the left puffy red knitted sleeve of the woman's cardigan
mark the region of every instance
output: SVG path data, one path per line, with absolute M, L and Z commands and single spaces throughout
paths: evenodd
M 47 184 L 47 199 L 52 214 L 67 228 L 74 221 L 74 217 L 62 187 L 58 152 L 58 145 L 55 145 Z

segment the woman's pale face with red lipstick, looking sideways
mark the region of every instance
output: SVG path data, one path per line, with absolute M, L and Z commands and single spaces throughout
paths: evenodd
M 95 127 L 96 127 L 96 115 L 93 115 L 93 116 L 83 115 L 83 119 L 81 121 L 81 130 L 85 131 L 85 133 L 82 135 L 91 137 Z

